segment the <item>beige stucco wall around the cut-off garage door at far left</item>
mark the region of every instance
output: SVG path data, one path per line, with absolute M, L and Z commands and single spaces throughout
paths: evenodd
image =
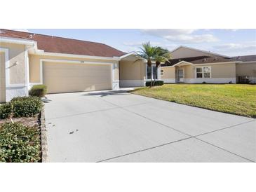
M 1 48 L 8 48 L 10 61 L 10 84 L 25 85 L 25 46 L 13 43 L 0 43 Z M 18 64 L 15 64 L 18 62 Z

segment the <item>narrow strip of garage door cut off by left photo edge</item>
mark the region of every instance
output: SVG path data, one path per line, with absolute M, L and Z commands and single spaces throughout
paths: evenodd
M 6 102 L 6 67 L 4 52 L 0 52 L 0 102 Z

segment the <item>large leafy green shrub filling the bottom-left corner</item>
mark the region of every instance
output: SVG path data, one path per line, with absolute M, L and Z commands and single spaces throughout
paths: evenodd
M 0 127 L 0 162 L 39 162 L 41 144 L 39 129 L 20 123 L 4 123 Z

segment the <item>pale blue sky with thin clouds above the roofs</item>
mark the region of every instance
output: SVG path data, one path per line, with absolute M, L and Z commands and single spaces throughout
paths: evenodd
M 173 50 L 188 46 L 227 56 L 256 55 L 256 29 L 18 29 L 105 43 L 124 52 L 142 43 Z

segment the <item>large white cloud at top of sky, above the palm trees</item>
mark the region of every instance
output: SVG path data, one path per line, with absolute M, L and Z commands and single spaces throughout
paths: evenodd
M 213 34 L 193 34 L 197 29 L 141 29 L 143 34 L 158 36 L 180 43 L 210 43 L 218 41 Z

